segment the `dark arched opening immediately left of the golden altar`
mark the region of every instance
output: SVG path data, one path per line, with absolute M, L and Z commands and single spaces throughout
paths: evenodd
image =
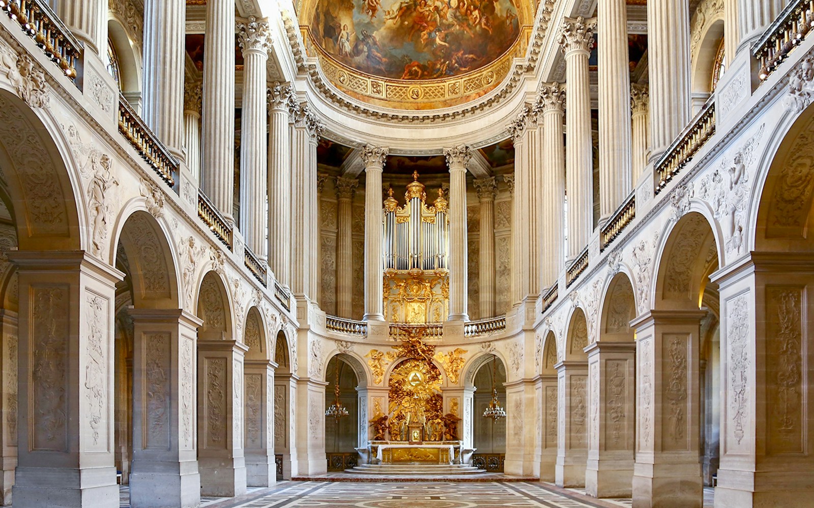
M 325 417 L 325 452 L 328 471 L 344 471 L 356 467 L 359 443 L 359 395 L 360 385 L 355 369 L 338 354 L 330 358 L 325 372 L 328 386 L 325 390 L 325 407 L 339 406 Z M 339 390 L 337 390 L 339 387 Z M 337 404 L 339 402 L 339 404 Z M 347 413 L 342 415 L 342 408 Z M 339 416 L 336 416 L 339 415 Z

